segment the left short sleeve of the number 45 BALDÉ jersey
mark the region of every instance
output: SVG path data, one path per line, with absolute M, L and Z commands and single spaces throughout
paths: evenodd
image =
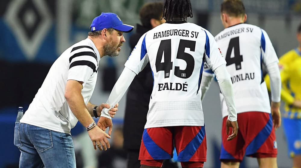
M 136 74 L 141 72 L 148 63 L 148 55 L 145 43 L 146 34 L 147 33 L 141 36 L 128 60 L 124 64 L 125 67 L 129 68 Z

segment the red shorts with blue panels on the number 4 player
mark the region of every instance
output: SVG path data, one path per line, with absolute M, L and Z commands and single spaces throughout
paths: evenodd
M 226 120 L 222 124 L 221 161 L 241 162 L 244 155 L 254 158 L 276 158 L 277 143 L 272 115 L 263 112 L 245 112 L 237 114 L 238 133 L 227 141 Z

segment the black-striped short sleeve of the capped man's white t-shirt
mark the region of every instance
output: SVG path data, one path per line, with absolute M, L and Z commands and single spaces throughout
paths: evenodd
M 93 50 L 72 50 L 70 52 L 67 80 L 71 79 L 85 83 L 97 70 L 98 60 Z

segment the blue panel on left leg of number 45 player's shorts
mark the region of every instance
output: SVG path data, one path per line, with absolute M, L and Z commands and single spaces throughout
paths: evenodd
M 161 149 L 148 135 L 147 129 L 143 131 L 143 143 L 147 150 L 147 152 L 151 155 L 154 160 L 161 160 L 161 159 L 170 159 L 171 156 Z

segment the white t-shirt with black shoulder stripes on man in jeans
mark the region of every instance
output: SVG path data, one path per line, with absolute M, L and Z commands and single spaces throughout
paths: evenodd
M 88 104 L 95 88 L 99 52 L 90 39 L 66 49 L 51 66 L 21 123 L 70 134 L 78 122 L 65 99 L 67 80 L 83 82 L 82 97 Z

